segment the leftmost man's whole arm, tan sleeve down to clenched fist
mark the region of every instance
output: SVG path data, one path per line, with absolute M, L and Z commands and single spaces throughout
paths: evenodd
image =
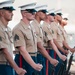
M 3 31 L 0 31 L 0 50 L 2 51 L 2 54 L 4 55 L 4 57 L 6 58 L 8 63 L 14 68 L 14 70 L 16 71 L 17 74 L 24 75 L 26 73 L 26 71 L 17 66 L 17 64 L 14 62 L 11 54 L 8 52 L 8 44 L 7 44 L 8 41 L 7 40 L 8 39 L 5 37 L 5 34 L 3 33 Z

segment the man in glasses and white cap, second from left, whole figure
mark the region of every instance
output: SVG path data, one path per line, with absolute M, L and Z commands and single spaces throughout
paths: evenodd
M 15 46 L 15 62 L 18 66 L 26 69 L 26 75 L 34 75 L 35 70 L 41 71 L 42 65 L 37 62 L 37 41 L 35 29 L 30 24 L 34 19 L 36 3 L 30 3 L 21 8 L 22 19 L 20 23 L 13 29 L 14 46 Z M 17 74 L 16 74 L 17 75 Z

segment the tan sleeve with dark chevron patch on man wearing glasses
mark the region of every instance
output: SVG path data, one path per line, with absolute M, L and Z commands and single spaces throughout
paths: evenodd
M 14 41 L 14 46 L 19 47 L 19 46 L 25 46 L 26 47 L 26 41 L 24 38 L 24 34 L 20 30 L 13 30 L 13 41 Z

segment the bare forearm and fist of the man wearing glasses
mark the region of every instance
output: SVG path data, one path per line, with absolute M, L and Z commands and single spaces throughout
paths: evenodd
M 32 60 L 31 56 L 30 56 L 29 53 L 26 51 L 26 49 L 25 49 L 24 46 L 19 46 L 18 49 L 19 49 L 21 55 L 23 56 L 23 58 L 26 60 L 26 62 L 27 62 L 28 64 L 30 64 L 35 70 L 41 71 L 42 65 L 36 64 L 36 63 Z

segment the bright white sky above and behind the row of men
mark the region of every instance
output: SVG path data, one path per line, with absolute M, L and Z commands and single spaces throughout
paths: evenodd
M 6 0 L 0 0 L 0 2 Z M 13 0 L 12 0 L 13 1 Z M 75 0 L 15 0 L 14 7 L 16 11 L 14 11 L 13 20 L 9 22 L 9 26 L 13 28 L 21 19 L 20 11 L 18 6 L 25 5 L 28 3 L 37 2 L 40 4 L 47 4 L 48 9 L 62 9 L 62 13 L 68 16 L 69 22 L 65 27 L 67 32 L 75 33 Z

